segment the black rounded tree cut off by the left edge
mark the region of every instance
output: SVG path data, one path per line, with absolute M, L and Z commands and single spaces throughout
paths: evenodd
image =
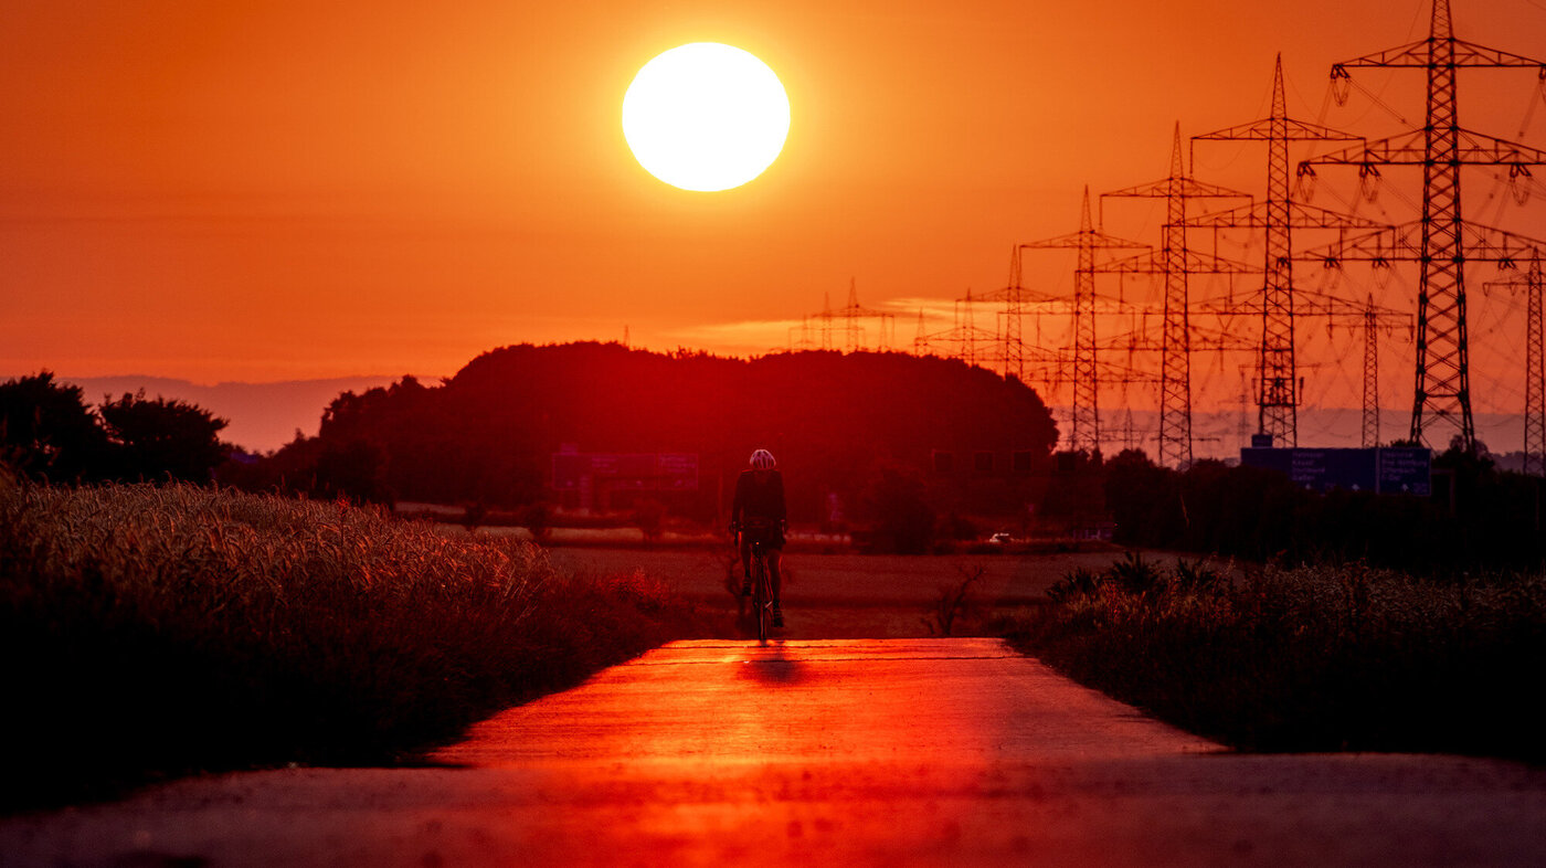
M 40 371 L 0 384 L 0 460 L 36 480 L 76 483 L 99 478 L 107 435 L 79 385 Z

